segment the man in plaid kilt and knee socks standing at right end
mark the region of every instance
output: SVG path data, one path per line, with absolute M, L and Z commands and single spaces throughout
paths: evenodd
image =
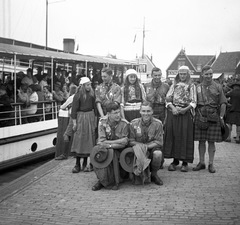
M 216 152 L 215 142 L 222 141 L 221 126 L 224 126 L 223 117 L 226 111 L 227 99 L 222 86 L 213 81 L 211 66 L 202 68 L 202 82 L 197 85 L 197 110 L 195 117 L 195 140 L 199 141 L 200 162 L 193 171 L 205 169 L 206 141 L 208 142 L 209 165 L 208 171 L 215 173 L 213 166 Z M 205 120 L 205 122 L 204 122 Z M 202 126 L 203 123 L 206 126 Z

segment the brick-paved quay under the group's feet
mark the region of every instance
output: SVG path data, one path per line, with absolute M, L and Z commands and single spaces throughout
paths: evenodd
M 159 171 L 164 185 L 121 184 L 93 192 L 94 172 L 72 174 L 75 159 L 52 160 L 0 189 L 0 224 L 240 224 L 240 145 L 217 144 L 215 167 Z M 208 155 L 206 163 L 208 163 Z

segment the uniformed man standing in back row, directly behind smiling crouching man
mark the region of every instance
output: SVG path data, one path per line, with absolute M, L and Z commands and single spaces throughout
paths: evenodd
M 152 103 L 153 116 L 165 120 L 165 98 L 169 90 L 169 85 L 161 81 L 162 71 L 155 67 L 152 69 L 152 81 L 145 84 L 146 100 Z

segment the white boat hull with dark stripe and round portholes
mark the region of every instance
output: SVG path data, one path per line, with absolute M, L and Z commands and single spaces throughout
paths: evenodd
M 0 170 L 55 151 L 57 119 L 0 128 Z

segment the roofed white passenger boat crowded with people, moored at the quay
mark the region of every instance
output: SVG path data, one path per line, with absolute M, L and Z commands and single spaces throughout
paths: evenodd
M 54 153 L 60 105 L 69 88 L 111 67 L 121 84 L 135 61 L 88 56 L 0 38 L 0 170 Z

